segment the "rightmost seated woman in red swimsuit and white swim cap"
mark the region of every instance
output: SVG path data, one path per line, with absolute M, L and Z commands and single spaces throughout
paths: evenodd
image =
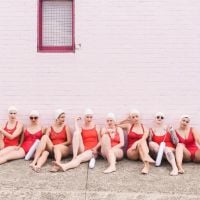
M 184 173 L 182 167 L 183 161 L 200 162 L 200 149 L 197 144 L 200 144 L 199 133 L 196 129 L 190 127 L 190 117 L 188 115 L 181 116 L 180 126 L 176 129 L 176 135 L 179 143 L 176 146 L 176 162 L 178 172 Z

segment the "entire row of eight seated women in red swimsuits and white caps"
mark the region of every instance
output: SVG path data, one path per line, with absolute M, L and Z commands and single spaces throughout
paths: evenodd
M 101 155 L 108 161 L 104 173 L 111 173 L 116 171 L 116 161 L 121 160 L 125 153 L 130 160 L 141 160 L 144 164 L 141 173 L 148 174 L 161 142 L 165 142 L 164 157 L 172 167 L 172 176 L 184 173 L 183 161 L 200 161 L 200 136 L 190 127 L 188 115 L 181 116 L 180 125 L 174 132 L 165 125 L 165 116 L 161 112 L 156 113 L 153 127 L 147 129 L 137 110 L 131 111 L 120 122 L 116 121 L 113 113 L 108 113 L 106 125 L 100 129 L 94 123 L 93 111 L 87 109 L 83 118 L 74 119 L 73 134 L 65 124 L 65 112 L 61 109 L 55 111 L 55 121 L 47 129 L 39 123 L 36 110 L 30 112 L 30 124 L 26 128 L 17 120 L 14 106 L 9 107 L 8 116 L 8 121 L 0 128 L 0 164 L 24 158 L 37 139 L 40 143 L 30 164 L 36 172 L 41 170 L 49 156 L 55 159 L 50 171 L 57 172 L 76 168 L 87 161 L 93 168 L 95 159 Z M 82 121 L 81 126 L 79 121 Z M 61 159 L 70 154 L 73 155 L 72 160 L 62 163 Z

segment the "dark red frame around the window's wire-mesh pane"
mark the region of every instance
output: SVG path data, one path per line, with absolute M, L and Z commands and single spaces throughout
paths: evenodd
M 38 0 L 38 52 L 75 52 L 75 28 L 74 28 L 74 10 L 75 0 L 72 0 L 72 45 L 71 46 L 43 46 L 42 45 L 42 2 L 44 0 Z

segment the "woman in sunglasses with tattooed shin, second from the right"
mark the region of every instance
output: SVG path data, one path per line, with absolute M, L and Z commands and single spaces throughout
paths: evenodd
M 172 171 L 170 172 L 171 176 L 178 175 L 178 168 L 176 166 L 176 160 L 174 156 L 175 145 L 173 144 L 171 135 L 164 124 L 164 114 L 161 112 L 156 113 L 155 115 L 155 125 L 150 129 L 149 137 L 149 149 L 157 155 L 159 150 L 159 145 L 161 142 L 165 142 L 164 154 L 168 162 L 172 166 Z

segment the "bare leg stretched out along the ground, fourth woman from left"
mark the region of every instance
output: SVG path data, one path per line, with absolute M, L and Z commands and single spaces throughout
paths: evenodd
M 87 162 L 92 157 L 93 157 L 92 151 L 91 150 L 87 150 L 87 151 L 79 154 L 75 159 L 71 160 L 68 163 L 61 164 L 61 163 L 58 163 L 56 161 L 54 161 L 53 163 L 56 166 L 58 166 L 60 170 L 66 171 L 66 170 L 78 167 L 82 162 Z

